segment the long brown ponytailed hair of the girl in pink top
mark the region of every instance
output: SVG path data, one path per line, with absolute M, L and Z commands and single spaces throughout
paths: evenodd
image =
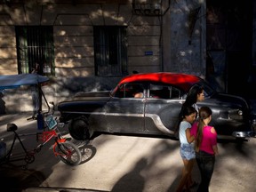
M 206 106 L 203 106 L 199 109 L 198 115 L 199 115 L 199 122 L 198 122 L 197 133 L 196 133 L 196 151 L 199 150 L 203 140 L 203 128 L 205 125 L 204 119 L 208 118 L 209 116 L 212 116 L 212 109 Z

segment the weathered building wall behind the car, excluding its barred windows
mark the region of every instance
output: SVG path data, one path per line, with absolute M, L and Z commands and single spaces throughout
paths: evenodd
M 132 12 L 132 0 L 119 4 L 26 2 L 0 4 L 0 75 L 18 73 L 15 26 L 52 25 L 56 76 L 46 89 L 46 96 L 55 102 L 76 92 L 112 89 L 122 77 L 94 76 L 93 26 L 127 26 L 129 74 L 133 70 L 174 71 L 204 76 L 204 1 L 163 1 L 163 17 Z M 201 12 L 190 39 L 188 15 L 198 6 Z M 6 93 L 3 100 L 8 108 L 12 100 Z M 26 103 L 19 110 L 30 110 L 28 95 L 14 106 Z

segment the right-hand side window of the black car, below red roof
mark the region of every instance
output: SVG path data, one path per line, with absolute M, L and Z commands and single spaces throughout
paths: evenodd
M 159 99 L 180 99 L 180 90 L 172 85 L 150 84 L 149 97 Z

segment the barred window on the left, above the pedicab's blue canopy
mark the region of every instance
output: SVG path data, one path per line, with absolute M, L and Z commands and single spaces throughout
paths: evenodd
M 17 26 L 15 31 L 19 74 L 31 73 L 39 64 L 38 74 L 54 76 L 52 27 Z

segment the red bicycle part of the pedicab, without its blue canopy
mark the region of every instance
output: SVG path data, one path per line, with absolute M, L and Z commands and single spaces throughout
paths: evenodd
M 53 104 L 53 103 L 52 103 Z M 13 140 L 11 148 L 6 152 L 2 150 L 2 158 L 0 159 L 0 164 L 10 163 L 14 161 L 24 160 L 25 164 L 23 166 L 27 167 L 28 164 L 32 164 L 35 161 L 36 153 L 41 151 L 41 148 L 44 147 L 46 143 L 50 140 L 54 139 L 55 142 L 52 146 L 54 156 L 60 158 L 62 162 L 69 165 L 77 165 L 82 161 L 82 154 L 80 149 L 76 146 L 75 143 L 64 138 L 59 131 L 59 128 L 62 128 L 64 124 L 58 123 L 56 119 L 54 119 L 52 114 L 43 114 L 44 115 L 44 131 L 36 132 L 36 133 L 23 133 L 18 134 L 16 131 L 18 126 L 16 124 L 7 124 L 7 132 L 13 132 Z M 42 115 L 42 116 L 43 116 Z M 37 115 L 38 116 L 38 115 Z M 40 116 L 40 115 L 39 115 Z M 39 121 L 38 117 L 31 117 L 29 119 L 36 119 Z M 36 146 L 33 150 L 28 150 L 20 137 L 36 135 L 36 141 L 39 145 Z M 13 148 L 15 146 L 15 142 L 18 140 L 20 142 L 20 146 L 22 148 L 22 152 L 13 153 Z M 6 148 L 6 144 L 1 143 L 2 148 Z

